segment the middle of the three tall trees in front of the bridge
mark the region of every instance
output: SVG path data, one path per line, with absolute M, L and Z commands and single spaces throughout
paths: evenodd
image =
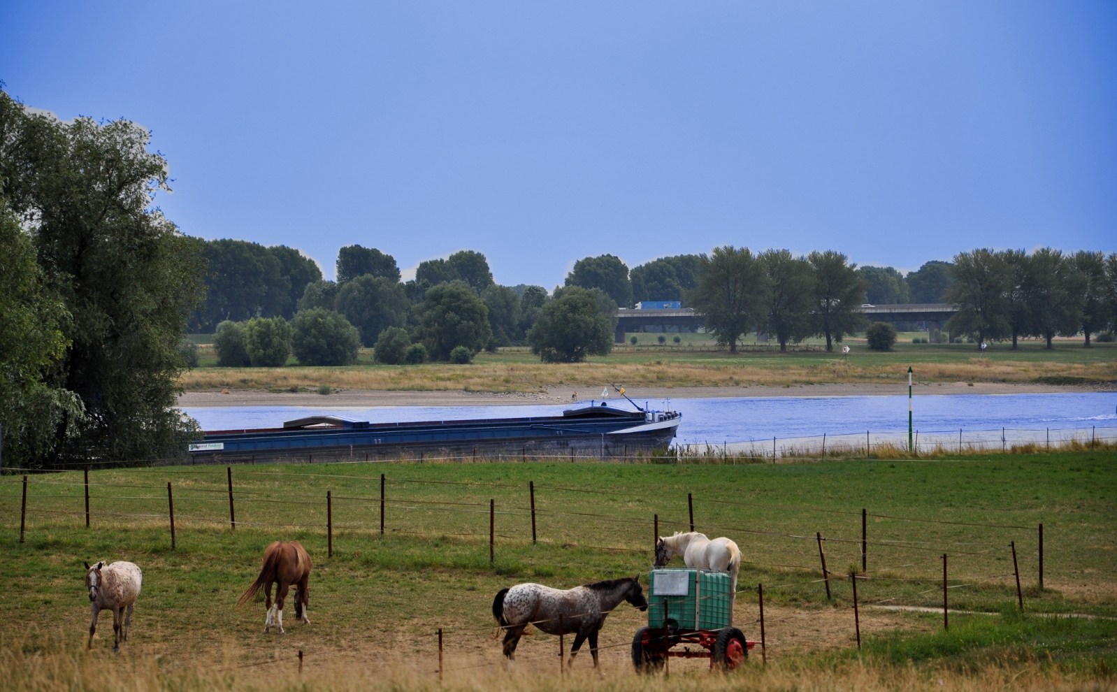
M 785 352 L 787 342 L 811 333 L 811 266 L 789 250 L 767 250 L 756 259 L 768 285 L 765 325 Z

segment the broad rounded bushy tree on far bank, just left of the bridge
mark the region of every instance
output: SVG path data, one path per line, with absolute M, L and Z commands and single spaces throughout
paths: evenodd
M 576 286 L 556 294 L 540 308 L 527 333 L 532 353 L 544 363 L 580 363 L 586 356 L 608 355 L 613 348 L 609 310 L 615 309 L 615 302 L 604 291 Z

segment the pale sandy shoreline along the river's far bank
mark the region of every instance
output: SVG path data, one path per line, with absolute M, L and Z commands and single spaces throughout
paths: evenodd
M 1094 392 L 1089 386 L 1060 386 L 1043 384 L 982 383 L 967 385 L 964 382 L 926 383 L 916 385 L 918 394 L 1054 394 L 1071 392 Z M 341 390 L 322 395 L 316 392 L 267 392 L 259 390 L 233 390 L 187 392 L 179 397 L 179 406 L 498 406 L 527 404 L 562 404 L 574 401 L 599 398 L 601 390 L 591 387 L 551 387 L 545 393 L 491 393 L 457 391 L 383 391 Z M 895 384 L 804 384 L 792 386 L 725 386 L 725 387 L 640 387 L 628 388 L 633 400 L 663 398 L 717 398 L 741 396 L 866 396 L 885 394 L 907 394 L 907 385 Z M 610 392 L 610 398 L 619 398 Z

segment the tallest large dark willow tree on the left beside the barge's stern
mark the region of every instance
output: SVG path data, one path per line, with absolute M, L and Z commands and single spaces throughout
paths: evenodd
M 64 123 L 0 92 L 0 196 L 34 248 L 44 300 L 59 306 L 61 347 L 42 382 L 82 404 L 58 409 L 49 443 L 25 445 L 20 463 L 162 458 L 197 429 L 174 404 L 202 263 L 152 206 L 168 166 L 149 140 L 135 123 Z

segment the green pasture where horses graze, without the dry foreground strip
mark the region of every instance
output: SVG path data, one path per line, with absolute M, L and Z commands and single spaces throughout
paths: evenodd
M 875 577 L 859 583 L 862 604 L 941 605 L 941 555 L 946 552 L 949 584 L 958 586 L 951 589 L 952 607 L 1002 611 L 1015 599 L 1009 547 L 1015 541 L 1028 612 L 1117 616 L 1115 461 L 1111 452 L 1063 452 L 774 465 L 238 465 L 235 531 L 225 467 L 93 471 L 89 529 L 77 471 L 30 477 L 23 545 L 18 542 L 20 479 L 7 475 L 0 482 L 6 556 L 0 604 L 8 613 L 2 627 L 84 628 L 83 560 L 128 559 L 145 575 L 140 612 L 168 616 L 144 628 L 143 636 L 160 642 L 194 637 L 195 628 L 210 626 L 214 612 L 233 633 L 248 636 L 260 628 L 262 608 L 236 611 L 237 597 L 255 578 L 268 542 L 297 539 L 316 564 L 311 614 L 323 622 L 315 632 L 327 633 L 321 645 L 366 631 L 369 618 L 393 637 L 424 636 L 438 626 L 467 633 L 489 626 L 488 607 L 503 586 L 535 580 L 570 587 L 646 573 L 653 515 L 661 534 L 687 530 L 688 492 L 696 529 L 734 538 L 744 554 L 737 603 L 745 615 L 738 621 L 755 617 L 757 583 L 767 585 L 770 607 L 825 612 L 851 605 L 850 585 L 837 576 L 859 570 L 862 507 L 870 513 L 868 576 Z M 381 473 L 388 499 L 383 536 Z M 168 481 L 176 515 L 174 550 Z M 529 481 L 535 483 L 534 545 Z M 326 557 L 327 490 L 334 498 L 332 558 Z M 493 563 L 490 499 L 496 508 Z M 1048 587 L 1042 593 L 1037 585 L 1040 522 Z M 836 576 L 831 600 L 818 582 L 815 532 L 827 538 L 828 567 Z M 630 632 L 640 615 L 622 611 L 618 622 Z M 292 621 L 288 613 L 288 632 L 298 632 Z

